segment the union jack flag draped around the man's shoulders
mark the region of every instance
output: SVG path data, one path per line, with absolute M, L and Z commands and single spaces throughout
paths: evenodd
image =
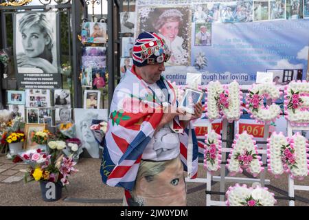
M 134 69 L 133 66 L 131 72 L 126 72 L 126 77 L 115 89 L 100 169 L 105 184 L 126 190 L 133 190 L 141 156 L 163 115 L 162 104 L 155 101 L 154 94 Z M 167 89 L 169 104 L 176 106 L 172 85 L 163 78 L 157 85 Z M 179 120 L 174 120 L 173 124 L 175 129 L 182 129 Z M 190 128 L 179 133 L 179 147 L 184 169 L 193 179 L 197 174 L 198 144 L 192 123 Z

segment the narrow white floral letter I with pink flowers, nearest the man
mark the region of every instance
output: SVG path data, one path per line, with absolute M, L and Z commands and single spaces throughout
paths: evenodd
M 220 168 L 221 164 L 221 135 L 216 131 L 211 130 L 209 134 L 205 135 L 204 144 L 204 167 L 211 171 L 216 171 Z

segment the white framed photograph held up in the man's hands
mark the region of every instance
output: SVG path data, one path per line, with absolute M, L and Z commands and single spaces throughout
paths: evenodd
M 185 89 L 185 94 L 183 95 L 183 99 L 181 100 L 179 107 L 194 115 L 194 104 L 201 102 L 203 94 L 203 91 Z

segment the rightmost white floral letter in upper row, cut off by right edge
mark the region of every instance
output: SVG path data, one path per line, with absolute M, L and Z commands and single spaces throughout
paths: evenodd
M 284 88 L 284 111 L 292 126 L 309 125 L 309 83 L 291 81 Z

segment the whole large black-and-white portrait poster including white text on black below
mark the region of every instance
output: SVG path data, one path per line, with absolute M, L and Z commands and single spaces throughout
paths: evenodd
M 56 12 L 19 12 L 14 17 L 14 61 L 18 86 L 62 87 Z

